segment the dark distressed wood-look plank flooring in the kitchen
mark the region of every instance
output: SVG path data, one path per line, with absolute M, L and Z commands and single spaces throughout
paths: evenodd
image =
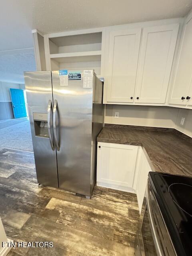
M 32 153 L 0 149 L 0 216 L 8 238 L 54 243 L 53 248 L 12 248 L 8 256 L 134 255 L 136 195 L 95 186 L 88 200 L 38 188 Z

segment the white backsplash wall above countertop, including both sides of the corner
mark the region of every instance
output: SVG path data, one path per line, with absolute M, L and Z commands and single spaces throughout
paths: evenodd
M 114 118 L 115 112 L 119 112 L 119 118 Z M 182 117 L 185 118 L 183 125 L 180 124 Z M 162 106 L 106 105 L 104 122 L 106 124 L 175 128 L 192 137 L 191 109 Z

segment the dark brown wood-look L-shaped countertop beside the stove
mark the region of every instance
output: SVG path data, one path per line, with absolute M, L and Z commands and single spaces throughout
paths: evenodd
M 175 129 L 105 124 L 97 141 L 142 146 L 153 171 L 192 176 L 192 138 Z

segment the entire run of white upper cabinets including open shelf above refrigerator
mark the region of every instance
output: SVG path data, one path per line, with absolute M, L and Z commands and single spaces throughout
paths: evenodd
M 184 22 L 184 38 L 175 68 L 178 30 Z M 192 108 L 191 45 L 192 20 L 189 16 L 187 19 L 139 22 L 44 36 L 34 34 L 39 70 L 93 68 L 97 76 L 104 77 L 104 104 L 172 104 L 175 107 L 182 104 L 182 107 Z M 176 74 L 174 81 L 173 74 Z M 174 82 L 171 89 L 170 81 Z M 186 100 L 187 96 L 191 99 Z M 185 99 L 181 100 L 182 97 Z

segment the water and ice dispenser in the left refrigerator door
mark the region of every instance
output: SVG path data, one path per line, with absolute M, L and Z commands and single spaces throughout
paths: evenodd
M 33 113 L 35 136 L 49 138 L 47 114 Z

